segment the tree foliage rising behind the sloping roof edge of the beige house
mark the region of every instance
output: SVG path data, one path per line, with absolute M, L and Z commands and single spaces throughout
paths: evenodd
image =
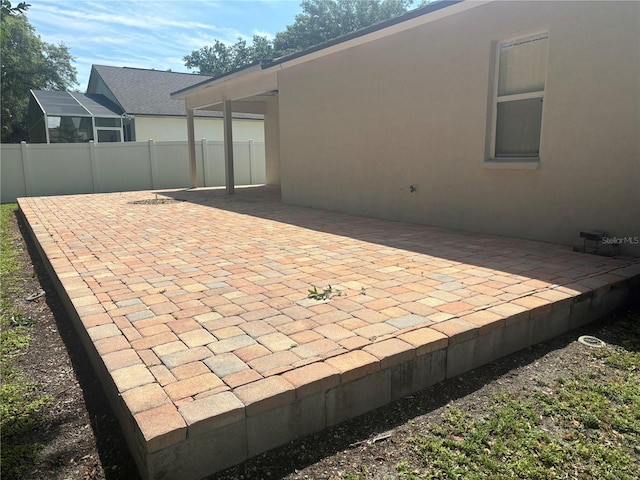
M 302 0 L 302 13 L 273 41 L 255 35 L 251 45 L 238 38 L 233 45 L 216 40 L 185 56 L 190 69 L 218 76 L 260 60 L 288 55 L 388 20 L 407 11 L 413 0 Z

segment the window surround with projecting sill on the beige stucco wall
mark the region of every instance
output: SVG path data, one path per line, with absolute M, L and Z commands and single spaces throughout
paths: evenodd
M 537 35 L 546 35 L 549 38 L 549 30 L 537 30 L 527 33 L 522 33 L 519 35 L 514 35 L 512 37 L 503 38 L 496 42 L 495 46 L 495 61 L 494 61 L 494 71 L 493 71 L 493 97 L 491 99 L 492 108 L 491 108 L 491 144 L 489 150 L 489 158 L 485 161 L 486 168 L 492 169 L 503 169 L 509 168 L 512 166 L 517 169 L 538 169 L 540 168 L 540 155 L 536 156 L 513 156 L 513 157 L 496 157 L 496 133 L 497 133 L 497 124 L 498 124 L 498 103 L 504 101 L 515 101 L 515 100 L 530 100 L 532 98 L 541 98 L 542 102 L 542 122 L 544 122 L 544 96 L 545 91 L 547 89 L 547 76 L 549 74 L 549 69 L 545 72 L 544 79 L 544 90 L 535 91 L 535 92 L 527 92 L 527 93 L 518 93 L 514 95 L 503 95 L 498 96 L 498 84 L 500 79 L 500 49 L 503 44 L 508 42 L 513 42 L 521 38 L 527 37 L 535 37 Z M 547 52 L 547 64 L 549 62 L 548 52 Z M 540 125 L 540 144 L 542 144 L 542 125 Z M 498 164 L 504 164 L 504 166 L 499 166 Z M 524 164 L 520 166 L 519 164 Z

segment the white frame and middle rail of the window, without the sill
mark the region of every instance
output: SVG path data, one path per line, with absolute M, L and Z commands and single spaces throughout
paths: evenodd
M 544 36 L 544 37 L 543 37 Z M 500 65 L 501 65 L 501 55 L 500 51 L 503 45 L 507 43 L 516 42 L 518 40 L 525 40 L 528 38 L 534 39 L 536 37 L 543 37 L 547 39 L 547 51 L 546 51 L 546 68 L 544 73 L 544 85 L 542 90 L 536 90 L 525 93 L 516 93 L 509 95 L 498 95 L 498 88 L 500 84 Z M 542 145 L 542 127 L 544 124 L 544 97 L 547 90 L 547 76 L 548 76 L 548 65 L 549 65 L 549 30 L 536 30 L 526 33 L 521 33 L 518 35 L 510 36 L 507 38 L 502 38 L 496 42 L 494 49 L 494 71 L 493 71 L 493 91 L 491 98 L 491 137 L 490 137 L 490 146 L 489 146 L 489 158 L 487 159 L 488 163 L 505 163 L 505 164 L 517 164 L 517 163 L 537 163 L 540 161 L 540 146 Z M 497 134 L 498 134 L 498 104 L 519 100 L 531 100 L 540 98 L 542 101 L 542 118 L 540 121 L 540 145 L 538 146 L 538 154 L 530 155 L 530 154 L 522 154 L 522 155 L 496 155 L 496 143 L 497 143 Z

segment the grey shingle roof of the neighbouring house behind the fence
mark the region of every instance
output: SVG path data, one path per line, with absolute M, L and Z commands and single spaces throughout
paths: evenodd
M 89 79 L 95 88 L 94 75 L 99 75 L 124 111 L 130 115 L 186 116 L 184 101 L 171 98 L 171 92 L 211 79 L 206 75 L 167 72 L 131 67 L 93 65 Z M 221 112 L 196 110 L 196 116 L 222 117 Z M 236 114 L 235 118 L 262 119 L 262 115 Z

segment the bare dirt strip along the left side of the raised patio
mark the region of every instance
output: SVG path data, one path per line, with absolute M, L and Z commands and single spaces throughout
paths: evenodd
M 39 385 L 40 393 L 53 398 L 46 421 L 25 439 L 42 445 L 42 450 L 37 463 L 22 478 L 135 480 L 139 478 L 136 466 L 102 387 L 24 222 L 20 216 L 17 220 L 11 222 L 12 233 L 26 248 L 21 249 L 24 269 L 21 288 L 17 289 L 20 294 L 12 301 L 35 324 L 30 328 L 29 349 L 16 365 Z M 40 290 L 45 295 L 38 295 Z

